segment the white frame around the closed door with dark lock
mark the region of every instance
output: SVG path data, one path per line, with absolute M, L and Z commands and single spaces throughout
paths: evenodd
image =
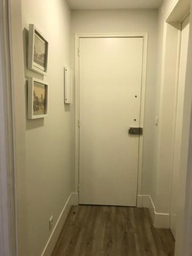
M 143 61 L 142 61 L 142 82 L 141 82 L 141 107 L 140 107 L 140 127 L 143 127 L 143 134 L 139 136 L 139 161 L 138 161 L 138 188 L 137 206 L 140 205 L 138 195 L 142 193 L 142 159 L 143 159 L 143 137 L 145 136 L 145 94 L 147 77 L 147 41 L 148 33 L 89 33 L 75 34 L 75 191 L 79 193 L 79 40 L 80 38 L 122 38 L 122 37 L 142 37 L 143 38 Z

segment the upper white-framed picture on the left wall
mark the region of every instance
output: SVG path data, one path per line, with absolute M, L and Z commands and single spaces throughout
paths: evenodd
M 28 68 L 47 74 L 48 42 L 34 24 L 29 24 Z

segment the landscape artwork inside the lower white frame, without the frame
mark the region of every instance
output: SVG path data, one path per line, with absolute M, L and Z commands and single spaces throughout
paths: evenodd
M 46 85 L 34 82 L 33 115 L 46 114 Z

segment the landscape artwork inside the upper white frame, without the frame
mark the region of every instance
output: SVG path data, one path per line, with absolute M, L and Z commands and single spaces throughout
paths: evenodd
M 36 33 L 34 37 L 34 62 L 45 70 L 46 65 L 46 42 Z

